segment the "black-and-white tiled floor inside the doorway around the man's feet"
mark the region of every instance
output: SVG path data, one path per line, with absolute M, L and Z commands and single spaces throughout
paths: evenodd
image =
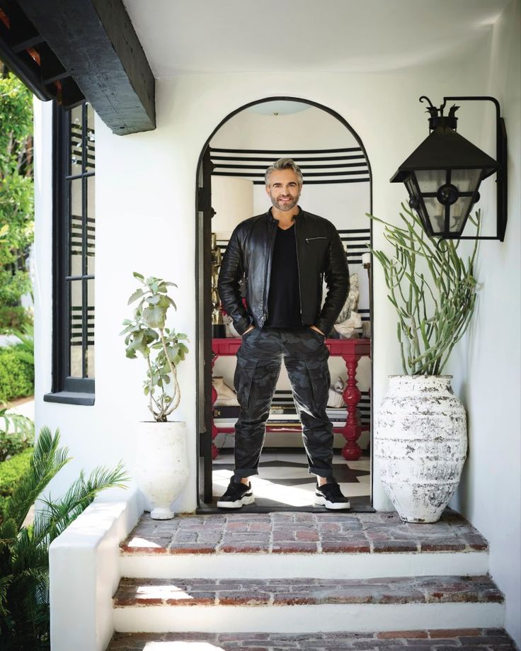
M 222 453 L 214 460 L 213 492 L 220 497 L 229 483 L 234 468 L 231 453 Z M 345 461 L 336 454 L 333 460 L 335 477 L 347 497 L 370 494 L 370 458 Z M 258 506 L 309 506 L 313 503 L 315 477 L 309 475 L 304 451 L 296 453 L 263 453 L 259 474 L 251 480 Z

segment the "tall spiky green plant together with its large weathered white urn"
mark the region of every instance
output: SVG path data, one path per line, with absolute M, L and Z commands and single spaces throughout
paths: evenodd
M 461 477 L 466 458 L 466 414 L 442 375 L 476 305 L 474 263 L 459 241 L 426 234 L 420 218 L 402 204 L 401 225 L 384 225 L 394 247 L 389 257 L 369 247 L 384 270 L 387 298 L 398 316 L 404 375 L 391 375 L 377 412 L 374 454 L 391 502 L 403 521 L 440 519 Z M 469 217 L 479 234 L 480 213 Z

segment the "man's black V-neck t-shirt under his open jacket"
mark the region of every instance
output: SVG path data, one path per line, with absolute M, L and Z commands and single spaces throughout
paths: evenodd
M 302 328 L 295 225 L 286 230 L 277 227 L 265 326 Z

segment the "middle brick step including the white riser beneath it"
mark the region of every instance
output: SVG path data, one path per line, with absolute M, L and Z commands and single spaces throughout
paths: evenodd
M 286 633 L 498 627 L 503 594 L 491 577 L 379 579 L 122 579 L 115 630 L 280 630 Z M 398 618 L 398 619 L 397 619 Z

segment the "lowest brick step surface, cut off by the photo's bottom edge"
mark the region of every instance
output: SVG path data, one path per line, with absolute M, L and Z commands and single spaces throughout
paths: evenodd
M 169 651 L 199 643 L 210 651 L 448 651 L 454 649 L 515 651 L 503 628 L 391 630 L 385 632 L 287 633 L 115 633 L 107 651 L 145 651 L 153 642 Z M 159 642 L 164 642 L 160 645 Z M 167 645 L 166 642 L 169 642 Z M 178 644 L 176 644 L 178 642 Z M 190 645 L 190 646 L 188 646 Z

